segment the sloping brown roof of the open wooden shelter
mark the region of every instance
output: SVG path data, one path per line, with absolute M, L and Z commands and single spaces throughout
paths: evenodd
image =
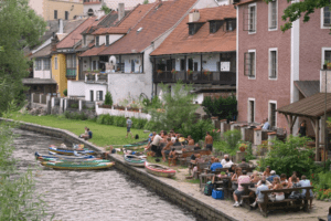
M 281 114 L 320 117 L 324 115 L 325 93 L 318 93 L 277 109 Z M 331 94 L 327 93 L 327 112 L 331 112 Z

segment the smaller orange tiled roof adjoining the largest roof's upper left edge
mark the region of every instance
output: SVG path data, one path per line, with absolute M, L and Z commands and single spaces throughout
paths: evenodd
M 126 18 L 124 18 L 115 29 L 110 28 L 102 28 L 95 31 L 93 34 L 118 34 L 118 33 L 127 33 L 128 30 L 134 27 L 154 4 L 138 4 Z

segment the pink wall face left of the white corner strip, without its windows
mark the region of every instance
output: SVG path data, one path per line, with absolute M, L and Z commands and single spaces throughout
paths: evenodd
M 255 98 L 255 122 L 261 123 L 268 117 L 269 101 L 277 102 L 277 108 L 290 103 L 290 73 L 291 73 L 291 32 L 281 32 L 282 11 L 288 7 L 287 1 L 278 2 L 278 30 L 268 31 L 268 4 L 257 1 L 256 33 L 244 31 L 244 6 L 238 7 L 238 70 L 237 97 L 238 120 L 248 120 L 248 98 Z M 268 63 L 269 49 L 278 49 L 278 78 L 269 80 Z M 256 50 L 256 78 L 244 76 L 244 53 Z M 287 127 L 284 115 L 276 114 L 277 127 Z

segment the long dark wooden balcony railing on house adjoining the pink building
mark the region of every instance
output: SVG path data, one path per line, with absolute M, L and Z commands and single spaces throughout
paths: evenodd
M 175 83 L 182 81 L 183 83 L 195 83 L 195 84 L 236 84 L 236 73 L 234 72 L 154 72 L 154 83 Z

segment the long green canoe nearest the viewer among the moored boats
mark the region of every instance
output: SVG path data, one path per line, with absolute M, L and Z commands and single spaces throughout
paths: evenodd
M 61 170 L 96 170 L 96 169 L 107 169 L 115 165 L 115 162 L 52 162 L 43 161 L 42 166 L 53 169 Z

